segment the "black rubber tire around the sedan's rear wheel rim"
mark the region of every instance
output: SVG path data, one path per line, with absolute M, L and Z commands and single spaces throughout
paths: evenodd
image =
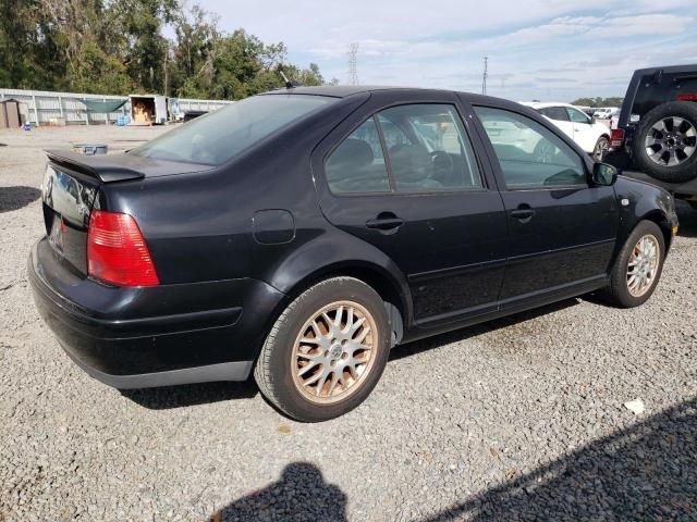
M 298 361 L 303 361 L 303 358 L 294 355 L 294 348 L 299 337 L 306 337 L 307 322 L 311 321 L 314 316 L 320 318 L 320 311 L 323 307 L 332 306 L 339 301 L 350 301 L 358 304 L 368 312 L 372 320 L 372 324 L 377 330 L 377 338 L 371 337 L 372 350 L 375 350 L 371 355 L 372 362 L 370 366 L 366 365 L 367 370 L 364 370 L 364 373 L 352 385 L 342 386 L 342 390 L 339 391 L 346 394 L 345 398 L 330 398 L 329 400 L 334 401 L 318 403 L 320 399 L 310 400 L 298 389 L 308 390 L 308 388 L 296 383 L 296 380 L 301 378 L 294 375 L 293 372 L 298 368 L 296 364 L 298 364 Z M 345 313 L 348 312 L 346 311 Z M 320 321 L 322 320 L 320 319 Z M 369 323 L 369 321 L 367 319 L 363 324 Z M 372 336 L 372 328 L 370 327 L 369 331 L 369 335 Z M 332 347 L 337 346 L 337 341 L 332 343 L 334 343 Z M 317 349 L 321 352 L 325 348 L 318 346 Z M 353 410 L 370 395 L 384 370 L 389 352 L 390 320 L 380 296 L 359 279 L 333 277 L 305 290 L 281 313 L 264 343 L 261 353 L 254 369 L 254 378 L 264 396 L 286 415 L 301 422 L 327 421 Z M 327 358 L 327 353 L 329 351 L 325 351 L 325 358 Z M 346 353 L 342 357 L 345 356 Z M 332 368 L 337 362 L 337 360 L 331 362 Z M 341 363 L 341 360 L 339 360 L 339 363 Z M 303 366 L 299 368 L 302 369 Z M 318 364 L 315 368 L 323 369 L 325 366 Z M 308 374 L 313 375 L 315 372 L 310 371 Z M 339 374 L 335 371 L 334 373 Z M 341 373 L 343 375 L 343 371 Z M 346 376 L 343 378 L 345 380 Z M 350 374 L 347 374 L 347 378 L 352 378 Z M 335 386 L 340 385 L 337 384 Z M 353 387 L 355 389 L 351 391 Z M 322 386 L 321 390 L 325 389 Z

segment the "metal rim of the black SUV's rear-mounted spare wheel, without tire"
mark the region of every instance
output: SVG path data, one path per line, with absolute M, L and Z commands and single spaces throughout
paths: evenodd
M 663 117 L 649 129 L 644 145 L 653 163 L 661 166 L 680 165 L 695 153 L 697 130 L 683 117 Z

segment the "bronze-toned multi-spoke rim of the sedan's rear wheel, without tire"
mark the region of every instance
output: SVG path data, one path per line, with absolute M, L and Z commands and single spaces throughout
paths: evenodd
M 293 383 L 316 403 L 343 400 L 366 381 L 379 346 L 375 319 L 354 301 L 337 301 L 303 325 L 291 359 Z

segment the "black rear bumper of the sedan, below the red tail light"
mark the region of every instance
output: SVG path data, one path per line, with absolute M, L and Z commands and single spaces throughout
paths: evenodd
M 63 349 L 118 388 L 246 380 L 285 299 L 250 278 L 109 287 L 71 272 L 46 239 L 32 249 L 28 276 Z

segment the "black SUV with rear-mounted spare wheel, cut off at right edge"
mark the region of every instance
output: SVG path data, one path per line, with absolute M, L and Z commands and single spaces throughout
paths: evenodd
M 697 209 L 697 64 L 635 71 L 606 161 Z

